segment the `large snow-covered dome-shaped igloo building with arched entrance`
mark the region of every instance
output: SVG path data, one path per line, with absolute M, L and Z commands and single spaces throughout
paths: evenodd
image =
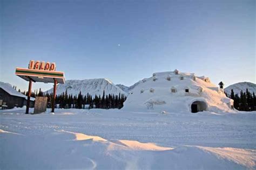
M 140 80 L 124 103 L 123 110 L 153 112 L 235 112 L 227 98 L 208 77 L 178 70 L 153 73 Z

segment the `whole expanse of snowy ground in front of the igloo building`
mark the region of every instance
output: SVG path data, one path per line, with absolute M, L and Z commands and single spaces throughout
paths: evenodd
M 256 168 L 256 112 L 24 112 L 0 111 L 0 169 Z

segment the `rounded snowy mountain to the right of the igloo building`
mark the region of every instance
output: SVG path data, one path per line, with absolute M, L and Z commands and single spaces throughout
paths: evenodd
M 251 93 L 252 92 L 256 93 L 256 84 L 250 83 L 250 82 L 235 83 L 235 84 L 232 84 L 232 85 L 226 87 L 225 92 L 227 94 L 230 94 L 232 89 L 233 89 L 234 93 L 238 93 L 238 94 L 240 94 L 241 90 L 243 92 L 245 92 L 246 89 L 248 89 L 248 91 Z

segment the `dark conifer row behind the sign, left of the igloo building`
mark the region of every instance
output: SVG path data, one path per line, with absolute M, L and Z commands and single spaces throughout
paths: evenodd
M 22 92 L 26 96 L 28 96 L 28 92 Z M 39 91 L 35 90 L 31 92 L 31 97 L 47 97 L 48 107 L 51 107 L 52 101 L 52 93 L 44 93 L 41 89 Z M 59 108 L 122 108 L 124 106 L 124 101 L 126 100 L 126 96 L 124 94 L 119 93 L 115 94 L 105 94 L 105 90 L 103 91 L 102 96 L 98 96 L 97 94 L 92 97 L 91 94 L 87 93 L 83 95 L 80 91 L 78 95 L 68 94 L 66 90 L 62 94 L 56 96 L 55 104 L 58 105 Z

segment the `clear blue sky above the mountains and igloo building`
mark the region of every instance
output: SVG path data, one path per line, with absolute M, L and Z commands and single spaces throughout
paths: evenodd
M 174 69 L 255 83 L 255 11 L 247 0 L 0 0 L 0 81 L 27 90 L 15 68 L 42 60 L 66 79 L 126 86 Z

